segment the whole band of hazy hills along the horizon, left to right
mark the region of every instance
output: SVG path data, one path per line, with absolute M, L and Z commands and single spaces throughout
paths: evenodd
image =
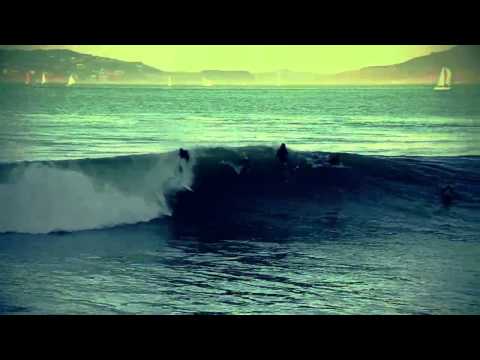
M 24 82 L 29 73 L 39 81 L 66 82 L 74 74 L 80 83 L 151 83 L 201 85 L 315 85 L 315 84 L 434 84 L 442 66 L 453 72 L 454 83 L 480 83 L 480 45 L 459 45 L 446 51 L 389 66 L 370 66 L 333 75 L 280 70 L 252 74 L 248 71 L 204 70 L 166 72 L 141 62 L 127 62 L 71 50 L 0 49 L 0 81 Z

